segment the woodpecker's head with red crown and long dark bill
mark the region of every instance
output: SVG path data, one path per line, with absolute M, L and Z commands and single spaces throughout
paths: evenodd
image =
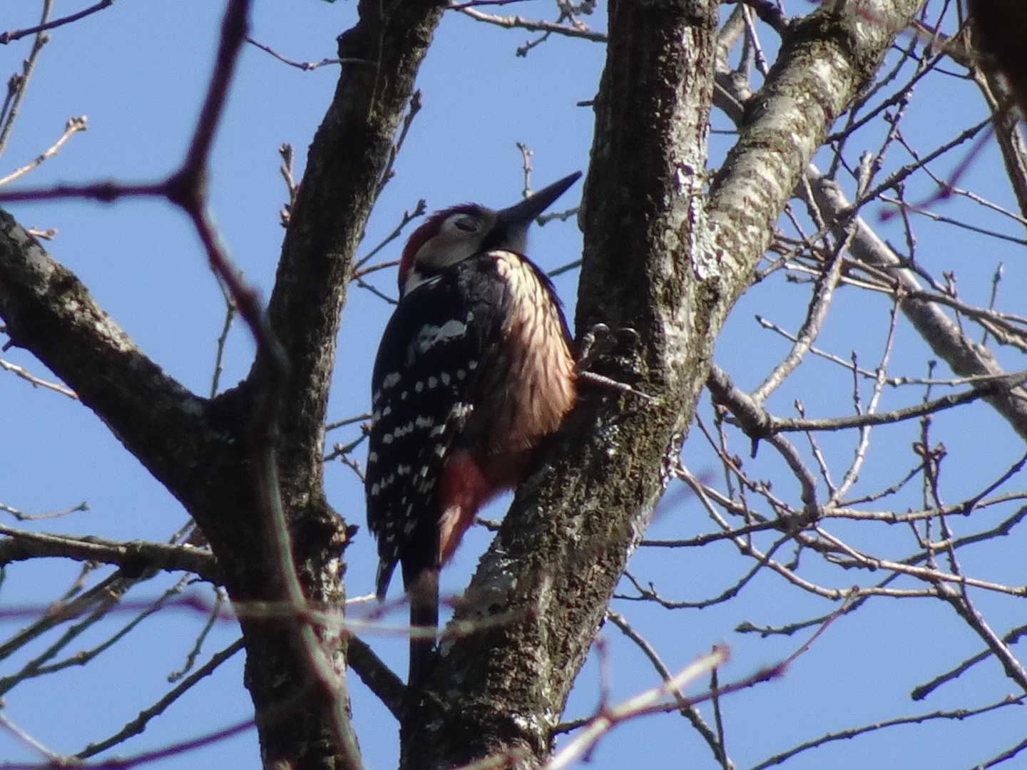
M 524 254 L 532 221 L 573 185 L 580 171 L 498 211 L 478 203 L 435 211 L 410 236 L 400 260 L 400 296 L 476 254 L 503 248 Z

